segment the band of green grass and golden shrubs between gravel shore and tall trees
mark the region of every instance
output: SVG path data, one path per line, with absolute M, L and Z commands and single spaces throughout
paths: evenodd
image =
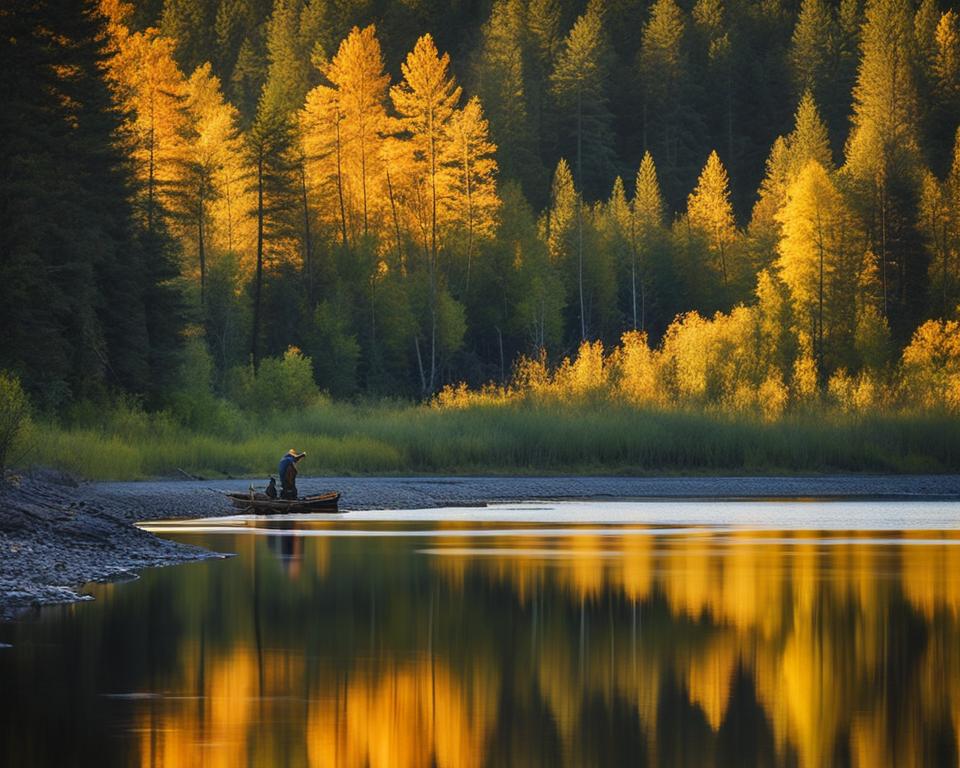
M 60 422 L 23 424 L 11 455 L 93 480 L 266 477 L 289 446 L 307 451 L 311 475 L 960 468 L 960 377 L 928 364 L 944 356 L 953 324 L 921 329 L 895 373 L 835 374 L 821 389 L 802 353 L 785 380 L 757 364 L 762 343 L 725 347 L 724 324 L 744 322 L 736 314 L 688 315 L 656 349 L 628 333 L 609 351 L 585 343 L 554 368 L 521 358 L 506 385 L 446 387 L 423 404 L 331 400 L 296 349 L 256 373 L 236 369 L 220 397 L 197 344 L 168 409 L 79 404 Z

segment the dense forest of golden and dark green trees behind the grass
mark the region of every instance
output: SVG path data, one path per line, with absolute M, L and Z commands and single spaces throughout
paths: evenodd
M 937 0 L 29 0 L 0 28 L 0 388 L 38 413 L 960 411 Z

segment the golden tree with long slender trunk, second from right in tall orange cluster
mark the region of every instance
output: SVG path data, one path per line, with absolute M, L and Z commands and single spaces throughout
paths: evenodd
M 430 375 L 424 389 L 435 389 L 437 371 L 438 286 L 440 250 L 440 200 L 444 190 L 441 162 L 448 139 L 447 123 L 460 101 L 460 86 L 449 74 L 450 56 L 441 56 L 433 38 L 423 35 L 400 65 L 403 80 L 390 89 L 399 117 L 398 127 L 409 136 L 409 165 L 420 183 L 410 200 L 420 223 L 430 279 Z M 419 347 L 418 347 L 419 349 Z

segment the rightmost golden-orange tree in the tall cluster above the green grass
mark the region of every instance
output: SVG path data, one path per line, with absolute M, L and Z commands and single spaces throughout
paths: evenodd
M 474 96 L 447 124 L 444 147 L 444 224 L 463 241 L 467 259 L 465 292 L 470 289 L 470 265 L 476 243 L 493 238 L 500 198 L 497 195 L 496 145 L 480 99 Z

